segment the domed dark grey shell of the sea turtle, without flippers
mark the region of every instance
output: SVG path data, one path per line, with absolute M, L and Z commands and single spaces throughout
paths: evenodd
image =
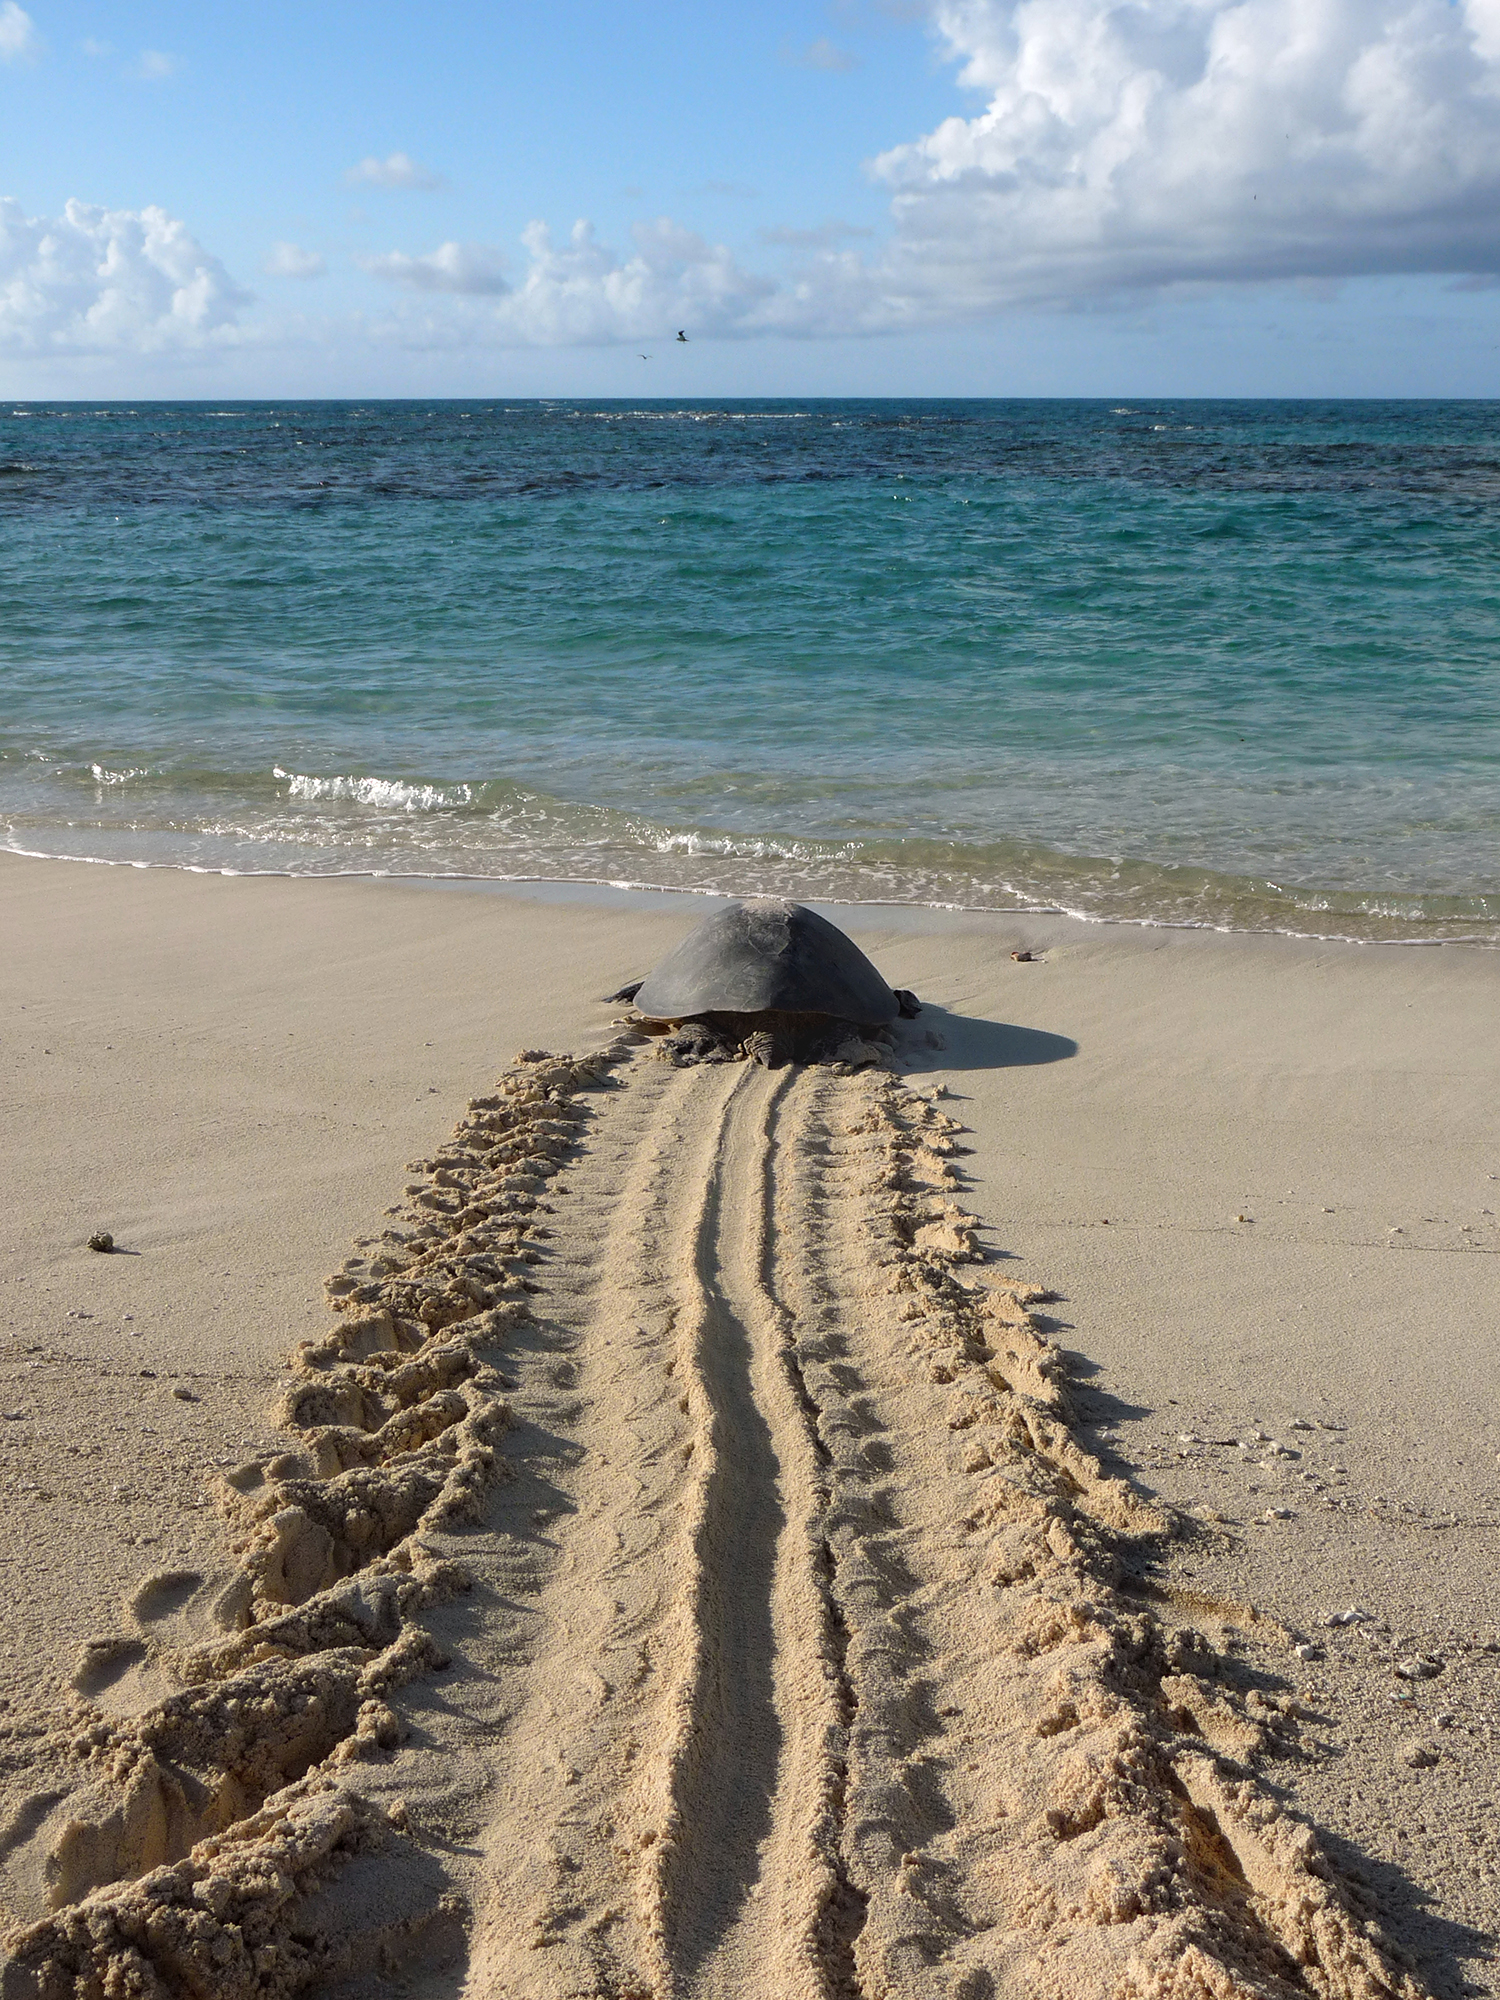
M 636 992 L 654 1020 L 696 1014 L 832 1014 L 896 1020 L 896 994 L 842 930 L 800 902 L 758 896 L 706 916 Z

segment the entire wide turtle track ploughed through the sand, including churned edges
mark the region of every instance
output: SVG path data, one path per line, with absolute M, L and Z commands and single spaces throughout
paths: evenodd
M 320 1884 L 416 1850 L 378 1942 L 462 1928 L 430 1990 L 472 2000 L 1416 2000 L 1256 1778 L 1290 1710 L 1132 1584 L 1168 1522 L 1074 1440 L 956 1132 L 884 1074 L 618 1046 L 478 1100 L 412 1192 L 424 1264 L 346 1272 L 294 1362 L 310 1464 L 232 1500 L 240 1628 L 148 1716 L 74 1718 L 108 1768 L 70 1852 L 134 1880 L 76 1870 L 14 1990 L 318 1990 Z M 150 1818 L 148 1752 L 186 1792 L 166 1710 L 236 1688 L 330 1740 L 180 1858 L 100 1834 Z

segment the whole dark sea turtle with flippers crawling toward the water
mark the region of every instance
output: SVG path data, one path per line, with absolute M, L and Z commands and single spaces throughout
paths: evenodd
M 886 986 L 852 938 L 780 896 L 716 910 L 610 998 L 634 1000 L 674 1062 L 750 1056 L 768 1070 L 868 1062 L 890 1046 L 890 1022 L 918 1012 L 916 994 Z

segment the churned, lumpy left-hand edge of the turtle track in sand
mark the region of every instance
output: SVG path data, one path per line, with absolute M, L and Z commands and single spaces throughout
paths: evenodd
M 112 1656 L 144 1656 L 176 1692 L 140 1714 L 78 1700 L 6 1728 L 10 1774 L 32 1792 L 0 1854 L 12 1886 L 30 1876 L 52 1910 L 6 1936 L 6 2000 L 280 2000 L 460 1922 L 402 1802 L 374 1802 L 352 1772 L 402 1738 L 396 1690 L 446 1664 L 432 1614 L 472 1586 L 452 1544 L 502 1476 L 500 1366 L 532 1322 L 540 1196 L 576 1150 L 580 1094 L 622 1052 L 520 1056 L 438 1156 L 414 1162 L 422 1178 L 390 1210 L 400 1226 L 328 1280 L 342 1318 L 292 1356 L 278 1412 L 290 1450 L 224 1480 L 226 1586 L 158 1634 L 202 1580 L 146 1578 L 136 1630 L 86 1648 L 74 1678 L 92 1696 Z M 372 1858 L 402 1894 L 308 1914 Z

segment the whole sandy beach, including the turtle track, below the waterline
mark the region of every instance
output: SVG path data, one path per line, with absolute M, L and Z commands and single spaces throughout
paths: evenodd
M 0 862 L 4 1992 L 1486 1990 L 1500 958 L 700 910 Z

